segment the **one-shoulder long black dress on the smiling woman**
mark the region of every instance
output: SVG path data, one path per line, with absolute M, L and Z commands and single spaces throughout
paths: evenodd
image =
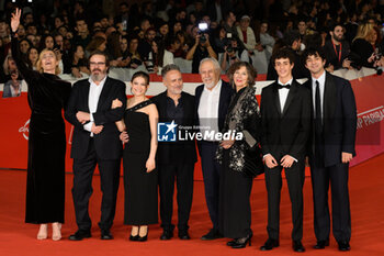
M 146 162 L 150 152 L 150 126 L 146 113 L 137 110 L 153 104 L 144 101 L 124 114 L 124 122 L 129 136 L 123 155 L 125 213 L 124 223 L 147 225 L 158 222 L 157 170 L 146 171 Z

